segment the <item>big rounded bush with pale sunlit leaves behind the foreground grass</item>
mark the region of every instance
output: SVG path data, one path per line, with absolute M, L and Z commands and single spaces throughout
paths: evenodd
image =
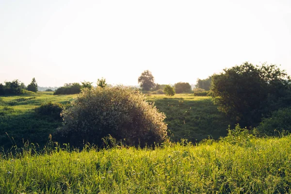
M 84 89 L 62 115 L 64 125 L 58 134 L 72 146 L 83 142 L 101 145 L 108 134 L 135 146 L 161 143 L 166 138 L 165 115 L 140 91 L 122 86 Z

